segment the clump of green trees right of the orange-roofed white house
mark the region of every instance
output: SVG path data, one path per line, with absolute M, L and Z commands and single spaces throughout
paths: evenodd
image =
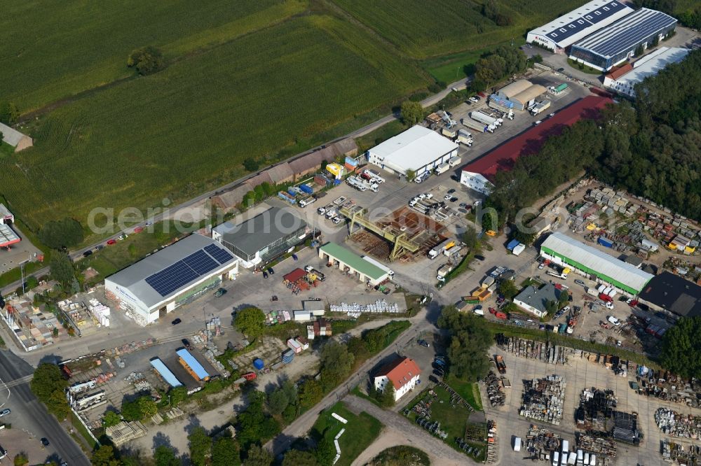
M 461 313 L 455 306 L 444 306 L 438 326 L 451 334 L 448 347 L 451 373 L 466 381 L 477 381 L 486 376 L 490 364 L 486 354 L 492 341 L 484 318 Z

